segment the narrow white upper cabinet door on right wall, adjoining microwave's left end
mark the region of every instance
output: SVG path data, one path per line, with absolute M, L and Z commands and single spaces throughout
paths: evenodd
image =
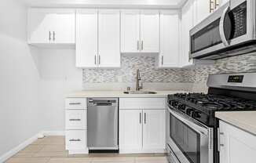
M 188 1 L 182 8 L 182 20 L 181 20 L 181 66 L 187 66 L 192 64 L 192 60 L 189 60 L 190 51 L 190 38 L 189 31 L 194 26 L 194 0 Z

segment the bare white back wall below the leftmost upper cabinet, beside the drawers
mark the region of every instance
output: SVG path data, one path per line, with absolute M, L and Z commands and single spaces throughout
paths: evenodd
M 82 90 L 82 69 L 75 67 L 75 49 L 40 49 L 39 100 L 44 130 L 64 131 L 64 98 Z

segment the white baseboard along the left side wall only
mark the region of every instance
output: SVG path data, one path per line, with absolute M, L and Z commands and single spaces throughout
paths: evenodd
M 29 144 L 33 143 L 36 139 L 38 139 L 38 134 L 35 136 L 32 136 L 31 138 L 25 140 L 23 143 L 20 143 L 18 146 L 14 147 L 12 150 L 9 150 L 2 156 L 0 156 L 0 162 L 4 162 L 11 158 L 13 155 L 18 153 L 20 150 L 23 150 L 25 147 L 27 147 Z

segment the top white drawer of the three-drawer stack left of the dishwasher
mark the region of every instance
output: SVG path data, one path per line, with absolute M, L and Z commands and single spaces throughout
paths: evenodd
M 86 109 L 87 99 L 86 98 L 67 98 L 65 101 L 66 109 Z

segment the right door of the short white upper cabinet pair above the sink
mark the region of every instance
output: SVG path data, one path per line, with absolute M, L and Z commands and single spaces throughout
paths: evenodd
M 141 52 L 159 53 L 159 11 L 141 11 Z

